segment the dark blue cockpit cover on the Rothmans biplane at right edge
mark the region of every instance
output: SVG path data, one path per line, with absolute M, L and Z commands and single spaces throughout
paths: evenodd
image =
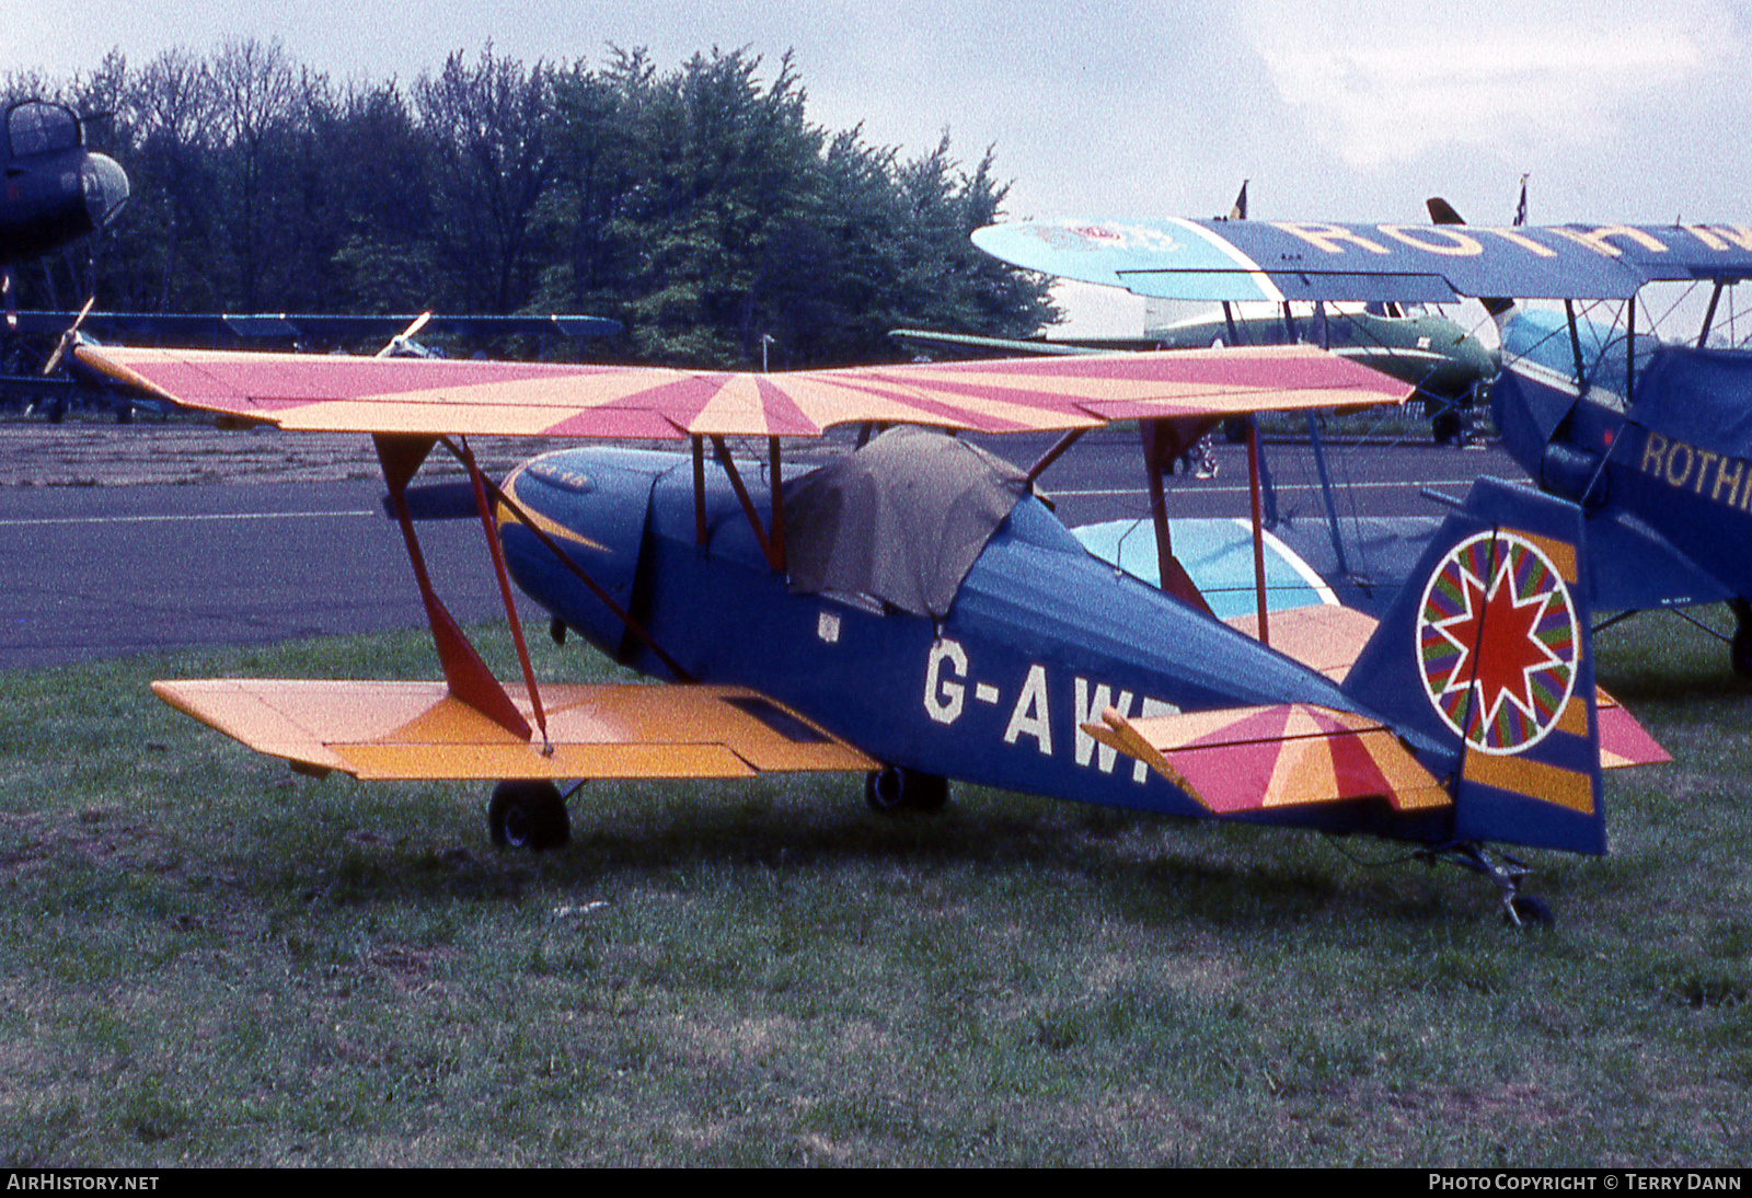
M 1666 345 L 1636 380 L 1631 419 L 1663 436 L 1752 457 L 1752 354 Z

